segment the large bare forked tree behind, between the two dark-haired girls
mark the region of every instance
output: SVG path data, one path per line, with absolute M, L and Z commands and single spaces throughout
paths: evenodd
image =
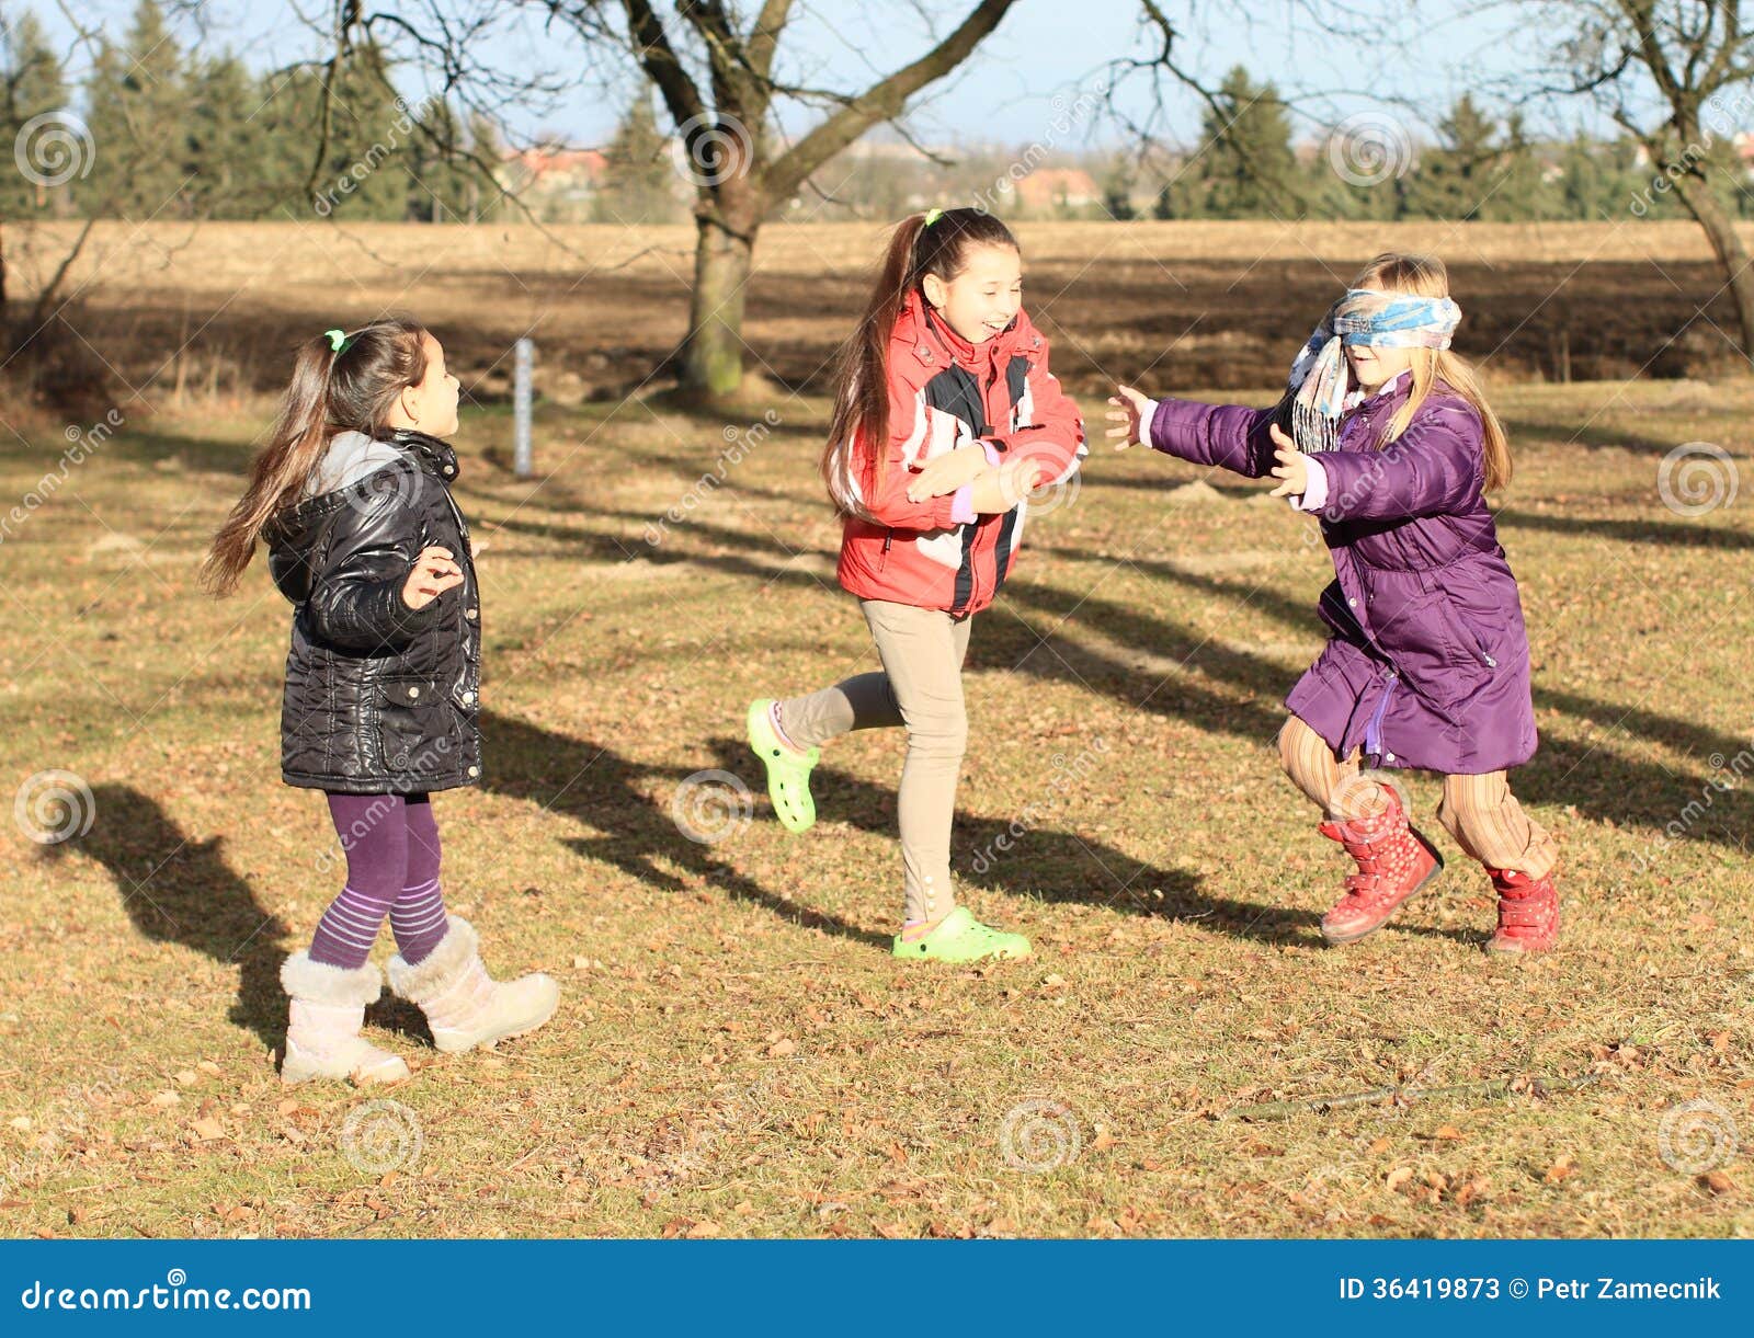
M 567 82 L 595 77 L 609 86 L 630 74 L 654 88 L 695 189 L 689 328 L 675 361 L 686 391 L 714 398 L 735 393 L 744 379 L 744 289 L 761 224 L 835 154 L 872 126 L 896 121 L 910 98 L 968 60 L 1014 4 L 972 0 L 928 51 L 858 91 L 782 75 L 782 46 L 805 9 L 796 0 L 672 0 L 663 9 L 654 0 L 381 0 L 377 7 L 323 0 L 323 18 L 307 23 L 323 33 L 328 54 L 302 67 L 319 70 L 328 84 L 367 46 L 395 53 L 465 109 L 493 117 L 507 139 L 509 109 L 528 116 L 521 105 L 526 89 L 554 95 Z M 909 7 L 930 11 L 928 0 Z M 502 68 L 482 54 L 491 32 L 519 21 L 574 39 L 570 79 L 556 79 L 553 70 Z M 817 110 L 821 119 L 784 142 L 775 116 L 781 103 Z M 326 133 L 326 116 L 323 125 Z M 317 139 L 314 161 L 326 149 L 324 135 Z

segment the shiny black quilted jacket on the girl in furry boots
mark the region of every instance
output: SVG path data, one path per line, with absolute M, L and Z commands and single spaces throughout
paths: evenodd
M 481 779 L 481 589 L 451 500 L 456 452 L 417 431 L 382 442 L 400 459 L 300 502 L 265 533 L 295 610 L 281 712 L 289 786 L 409 794 Z M 416 610 L 402 586 L 428 544 L 456 554 L 463 584 Z

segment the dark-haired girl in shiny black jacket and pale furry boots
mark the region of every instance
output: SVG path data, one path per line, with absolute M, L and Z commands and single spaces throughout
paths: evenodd
M 347 884 L 309 950 L 281 968 L 291 996 L 281 1077 L 393 1082 L 407 1064 L 363 1036 L 382 991 L 368 963 L 389 917 L 389 986 L 440 1050 L 542 1026 L 545 975 L 496 984 L 468 921 L 446 914 L 431 791 L 481 779 L 481 591 L 451 498 L 458 381 L 416 321 L 330 330 L 298 349 L 293 384 L 203 580 L 237 589 L 256 552 L 293 603 L 281 775 L 321 789 Z

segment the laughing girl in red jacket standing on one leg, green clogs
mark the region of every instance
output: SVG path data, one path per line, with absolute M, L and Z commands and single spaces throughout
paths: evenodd
M 823 480 L 844 517 L 840 584 L 859 600 L 881 673 L 749 707 L 749 747 L 789 831 L 816 821 L 810 768 L 849 729 L 907 728 L 900 826 L 905 912 L 895 956 L 1026 957 L 956 905 L 951 819 L 968 738 L 968 626 L 1023 540 L 1024 495 L 1070 479 L 1084 424 L 1023 314 L 1023 258 L 979 209 L 933 209 L 889 240 L 847 340 Z

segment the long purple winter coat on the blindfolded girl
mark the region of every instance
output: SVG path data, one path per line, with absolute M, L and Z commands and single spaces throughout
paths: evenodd
M 1340 423 L 1323 537 L 1338 577 L 1333 630 L 1286 707 L 1345 758 L 1479 775 L 1535 756 L 1529 644 L 1517 580 L 1482 495 L 1480 417 L 1433 388 L 1400 440 L 1375 449 L 1410 393 L 1373 395 Z M 1251 479 L 1273 468 L 1273 410 L 1163 400 L 1151 445 Z

